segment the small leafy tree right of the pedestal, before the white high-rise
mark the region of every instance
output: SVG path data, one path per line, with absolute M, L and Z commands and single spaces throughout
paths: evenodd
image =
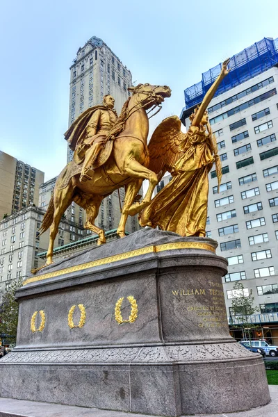
M 231 325 L 240 327 L 243 332 L 243 338 L 251 341 L 253 329 L 258 327 L 252 323 L 252 314 L 258 313 L 259 307 L 254 305 L 254 297 L 252 290 L 248 294 L 244 291 L 244 286 L 241 282 L 236 281 L 233 287 L 233 299 L 231 300 Z M 240 325 L 235 325 L 240 323 Z

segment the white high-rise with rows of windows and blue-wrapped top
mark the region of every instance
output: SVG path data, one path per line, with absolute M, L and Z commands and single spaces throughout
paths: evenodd
M 235 281 L 252 290 L 259 313 L 278 344 L 278 40 L 264 38 L 231 58 L 231 72 L 208 107 L 222 161 L 218 194 L 215 168 L 209 174 L 207 236 L 218 240 L 218 254 L 228 263 L 223 277 L 228 316 Z M 220 72 L 220 65 L 186 88 L 181 120 L 200 104 Z M 240 316 L 243 311 L 236 311 Z M 261 331 L 260 331 L 261 332 Z M 260 336 L 258 330 L 256 336 Z M 275 339 L 276 338 L 276 339 Z

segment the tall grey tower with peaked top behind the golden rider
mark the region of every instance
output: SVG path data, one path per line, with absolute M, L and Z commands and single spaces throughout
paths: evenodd
M 132 75 L 106 43 L 92 36 L 77 51 L 70 67 L 69 126 L 87 108 L 102 104 L 105 95 L 115 99 L 118 114 L 129 97 L 127 88 L 132 84 Z M 67 162 L 73 152 L 67 148 Z

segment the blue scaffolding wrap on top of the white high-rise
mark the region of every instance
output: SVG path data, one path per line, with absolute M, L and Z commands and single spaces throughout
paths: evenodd
M 278 38 L 263 38 L 239 54 L 234 55 L 229 62 L 229 74 L 220 83 L 215 96 L 231 90 L 241 83 L 269 70 L 278 63 Z M 220 74 L 222 64 L 218 64 L 202 74 L 202 81 L 184 90 L 184 98 L 187 108 L 195 107 L 201 103 L 206 92 Z M 182 112 L 183 113 L 183 112 Z

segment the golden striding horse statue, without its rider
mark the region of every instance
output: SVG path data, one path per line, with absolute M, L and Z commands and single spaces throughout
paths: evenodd
M 67 177 L 67 173 L 74 172 L 74 161 L 72 161 L 67 164 L 56 181 L 54 195 L 40 228 L 42 234 L 50 227 L 46 265 L 53 262 L 54 240 L 58 233 L 60 219 L 73 201 L 85 209 L 87 216 L 85 228 L 98 234 L 98 245 L 106 243 L 104 230 L 95 225 L 99 206 L 105 197 L 117 188 L 124 186 L 126 196 L 120 224 L 117 228 L 117 234 L 121 238 L 125 236 L 128 215 L 136 215 L 151 202 L 158 177 L 155 172 L 147 168 L 149 165 L 147 110 L 160 106 L 165 97 L 170 97 L 171 90 L 167 85 L 150 85 L 148 83 L 139 84 L 129 90 L 132 95 L 124 104 L 118 121 L 111 129 L 111 131 L 115 131 L 115 128 L 117 130 L 116 125 L 120 126 L 120 133 L 115 138 L 110 136 L 110 140 L 113 140 L 113 149 L 106 163 L 95 170 L 89 181 L 79 181 L 80 172 L 73 175 L 68 174 L 70 178 L 68 183 L 61 187 L 60 183 Z M 134 202 L 144 179 L 149 181 L 147 193 L 142 202 Z

